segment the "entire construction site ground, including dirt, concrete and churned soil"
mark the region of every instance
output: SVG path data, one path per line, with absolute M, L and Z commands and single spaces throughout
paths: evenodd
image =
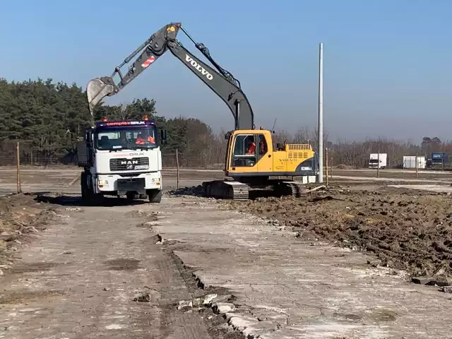
M 0 338 L 450 336 L 450 172 L 334 169 L 307 201 L 237 203 L 196 196 L 222 172 L 172 194 L 166 169 L 162 203 L 102 206 L 79 172 L 24 167 L 30 194 L 0 197 Z

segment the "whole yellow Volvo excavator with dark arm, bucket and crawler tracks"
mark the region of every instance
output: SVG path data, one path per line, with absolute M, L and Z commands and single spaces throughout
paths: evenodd
M 179 31 L 194 42 L 212 66 L 195 57 L 177 40 Z M 91 114 L 100 100 L 117 94 L 167 50 L 208 85 L 226 103 L 234 117 L 234 130 L 225 135 L 227 151 L 224 171 L 227 178 L 203 182 L 206 196 L 243 201 L 249 199 L 250 189 L 271 187 L 279 196 L 307 198 L 306 184 L 315 182 L 318 171 L 316 153 L 311 145 L 275 144 L 272 138 L 274 131 L 256 129 L 253 110 L 239 81 L 210 57 L 208 48 L 196 42 L 182 28 L 182 23 L 169 23 L 151 35 L 114 69 L 112 76 L 89 81 L 87 97 Z M 123 76 L 121 68 L 138 53 L 140 55 Z M 115 82 L 114 76 L 119 76 L 119 81 Z M 295 181 L 294 177 L 301 177 L 302 181 Z

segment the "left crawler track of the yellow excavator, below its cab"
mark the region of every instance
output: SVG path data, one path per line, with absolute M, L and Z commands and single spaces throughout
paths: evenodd
M 215 180 L 203 182 L 204 193 L 208 197 L 231 199 L 234 201 L 249 200 L 249 186 L 241 182 Z

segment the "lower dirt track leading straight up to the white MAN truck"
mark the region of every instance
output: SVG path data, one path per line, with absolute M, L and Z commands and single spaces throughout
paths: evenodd
M 198 289 L 142 226 L 157 208 L 51 201 L 63 203 L 61 221 L 2 266 L 0 338 L 237 338 L 173 305 Z M 133 301 L 141 294 L 149 302 Z

